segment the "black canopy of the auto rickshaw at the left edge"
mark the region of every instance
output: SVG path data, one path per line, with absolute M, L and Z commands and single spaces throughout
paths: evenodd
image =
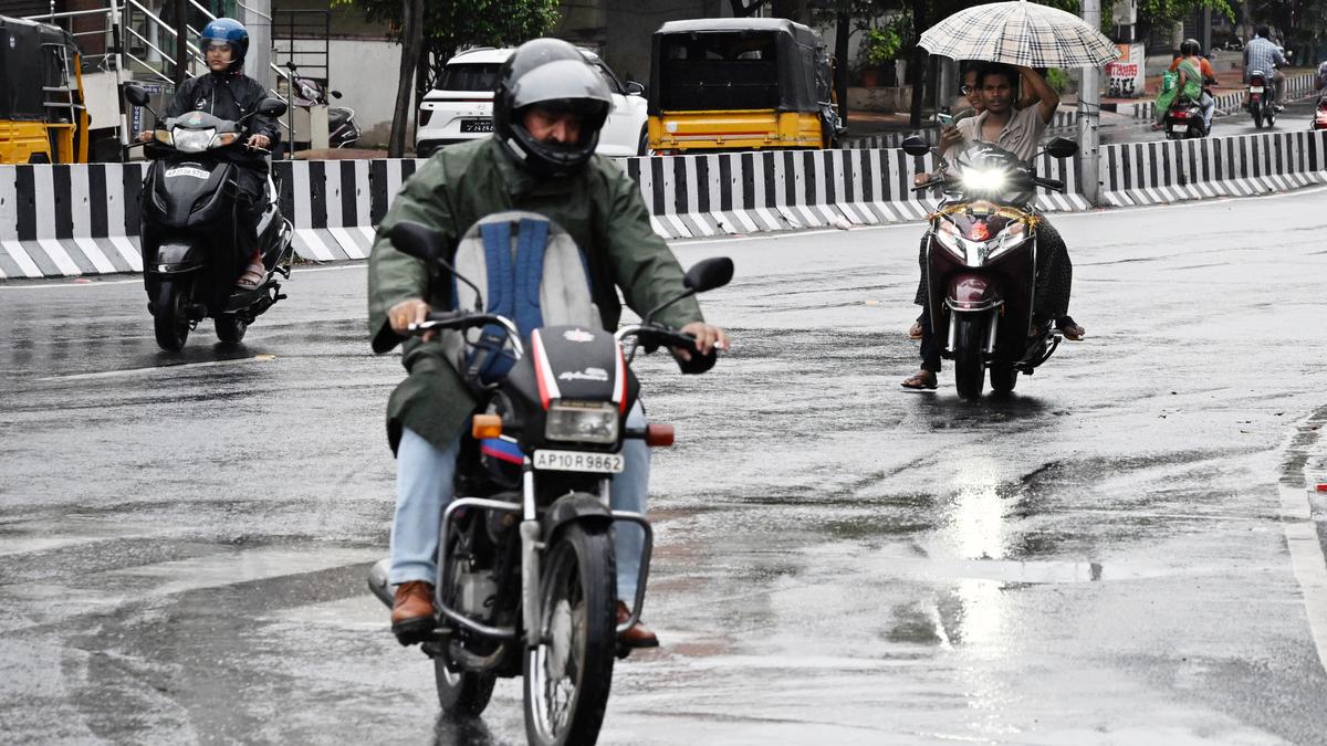
M 49 121 L 46 89 L 72 85 L 66 65 L 77 54 L 62 28 L 0 16 L 0 121 Z

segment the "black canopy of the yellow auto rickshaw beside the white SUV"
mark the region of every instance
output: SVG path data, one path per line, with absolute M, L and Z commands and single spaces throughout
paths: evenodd
M 816 113 L 831 102 L 820 36 L 786 19 L 670 21 L 654 32 L 649 113 Z

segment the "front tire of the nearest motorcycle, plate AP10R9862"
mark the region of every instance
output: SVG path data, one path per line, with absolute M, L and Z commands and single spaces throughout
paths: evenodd
M 577 523 L 541 563 L 540 644 L 525 652 L 525 735 L 533 746 L 594 743 L 617 653 L 616 563 L 609 532 Z

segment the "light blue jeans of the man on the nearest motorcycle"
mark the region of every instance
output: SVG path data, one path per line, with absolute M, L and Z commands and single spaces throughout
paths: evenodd
M 628 427 L 645 426 L 645 410 L 637 401 L 626 417 Z M 438 581 L 438 528 L 442 511 L 451 502 L 453 478 L 460 438 L 438 449 L 409 427 L 397 447 L 397 512 L 391 522 L 393 584 L 423 580 Z M 645 512 L 650 485 L 650 449 L 641 439 L 622 443 L 625 470 L 612 479 L 609 503 L 613 510 Z M 617 522 L 613 527 L 613 551 L 617 556 L 617 597 L 632 605 L 636 580 L 645 550 L 645 530 L 634 523 Z

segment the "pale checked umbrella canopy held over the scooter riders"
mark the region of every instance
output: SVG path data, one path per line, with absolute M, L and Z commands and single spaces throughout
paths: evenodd
M 926 29 L 917 45 L 954 60 L 1030 68 L 1096 68 L 1120 56 L 1083 19 L 1026 0 L 965 8 Z

